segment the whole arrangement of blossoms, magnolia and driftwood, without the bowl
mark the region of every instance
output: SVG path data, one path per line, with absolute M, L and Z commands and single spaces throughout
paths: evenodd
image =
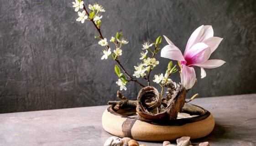
M 141 49 L 140 55 L 137 56 L 141 62 L 134 66 L 133 73 L 128 73 L 121 64 L 121 60 L 125 51 L 128 51 L 124 48 L 129 42 L 119 32 L 111 38 L 104 38 L 101 33 L 101 18 L 103 17 L 102 13 L 105 12 L 103 6 L 98 4 L 85 5 L 83 0 L 75 0 L 73 7 L 78 12 L 77 21 L 81 23 L 91 21 L 90 23 L 98 31 L 98 36 L 95 36 L 95 39 L 103 48 L 100 59 L 111 59 L 116 62 L 113 69 L 117 74 L 116 84 L 120 91 L 129 90 L 126 88 L 129 82 L 135 82 L 141 86 L 136 101 L 129 100 L 120 91 L 117 91 L 117 97 L 121 100 L 108 102 L 112 105 L 111 110 L 117 113 L 120 109 L 134 107 L 136 108 L 136 115 L 141 121 L 164 121 L 164 123 L 168 123 L 175 120 L 178 118 L 179 112 L 183 110 L 185 103 L 198 96 L 196 94 L 190 100 L 185 100 L 186 93 L 197 82 L 194 68 L 200 67 L 201 78 L 204 78 L 206 76 L 204 69 L 216 68 L 225 63 L 223 60 L 209 60 L 210 55 L 216 50 L 222 38 L 214 36 L 212 26 L 201 25 L 194 30 L 188 39 L 184 53 L 165 35 L 163 37 L 167 44 L 162 49 L 160 48 L 161 36 L 157 37 L 156 41 L 152 43 L 145 41 L 142 48 L 139 48 Z M 165 72 L 152 75 L 152 70 L 157 65 L 162 65 L 155 58 L 159 54 L 161 54 L 161 57 L 170 59 L 170 62 L 166 65 Z M 178 66 L 172 65 L 174 60 L 178 61 Z M 171 76 L 174 73 L 180 75 L 180 83 L 172 81 Z M 161 86 L 162 90 L 158 92 L 155 87 L 151 86 L 151 81 Z

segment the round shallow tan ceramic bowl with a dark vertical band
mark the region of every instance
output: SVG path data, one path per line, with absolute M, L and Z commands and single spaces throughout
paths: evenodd
M 182 136 L 196 139 L 213 131 L 214 117 L 204 108 L 186 103 L 181 113 L 197 116 L 172 121 L 145 121 L 133 116 L 136 107 L 114 111 L 110 106 L 102 115 L 102 126 L 114 136 L 140 141 L 172 141 Z

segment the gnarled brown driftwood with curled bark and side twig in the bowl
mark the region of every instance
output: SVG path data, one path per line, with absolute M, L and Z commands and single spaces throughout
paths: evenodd
M 142 120 L 173 120 L 177 118 L 185 102 L 189 102 L 185 101 L 187 91 L 181 84 L 172 81 L 165 87 L 167 95 L 164 98 L 156 88 L 146 86 L 139 91 L 137 101 L 128 100 L 117 91 L 117 97 L 121 101 L 109 101 L 108 104 L 113 105 L 115 111 L 125 107 L 136 107 L 137 115 Z

